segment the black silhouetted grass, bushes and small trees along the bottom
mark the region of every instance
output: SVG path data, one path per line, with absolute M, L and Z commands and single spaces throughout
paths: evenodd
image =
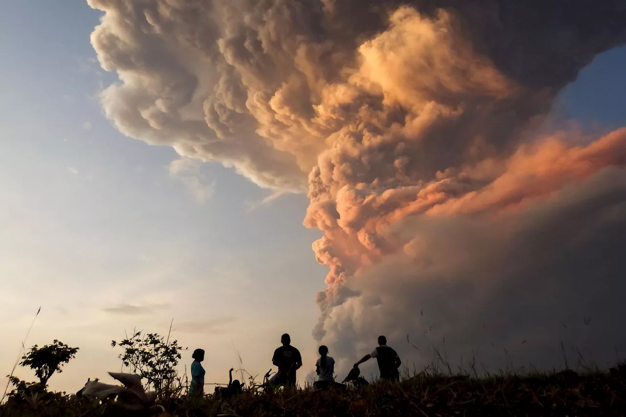
M 543 416 L 620 414 L 626 409 L 626 365 L 622 363 L 610 372 L 582 366 L 578 372 L 565 369 L 531 373 L 518 369 L 479 374 L 475 358 L 469 362 L 469 372 L 460 368 L 453 372 L 436 351 L 432 361 L 420 369 L 403 366 L 398 382 L 379 379 L 359 384 L 356 381 L 365 380 L 358 368 L 352 368 L 351 378 L 346 378 L 351 382 L 336 383 L 341 389 L 334 389 L 334 384 L 329 389 L 315 389 L 309 384 L 303 388 L 276 386 L 269 383 L 270 369 L 262 383 L 256 383 L 249 374 L 249 383 L 240 384 L 236 394 L 225 395 L 218 390 L 193 396 L 188 395 L 186 372 L 180 376 L 175 369 L 186 349 L 177 341 L 134 331 L 130 337 L 111 344 L 124 349 L 120 354 L 123 370 L 136 374 L 110 373 L 124 386 L 102 384 L 96 379 L 81 390 L 88 393 L 88 386 L 97 388 L 101 384 L 109 387 L 111 395 L 93 394 L 97 390 L 92 395 L 47 391 L 44 383 L 78 351 L 55 340 L 43 348 L 33 346 L 24 354 L 21 365 L 33 369 L 39 381 L 15 381 L 8 401 L 0 404 L 0 416 Z M 144 391 L 148 388 L 158 389 L 158 396 L 155 392 L 149 398 Z M 134 391 L 141 391 L 146 398 L 136 401 L 141 395 L 133 397 L 130 393 Z

